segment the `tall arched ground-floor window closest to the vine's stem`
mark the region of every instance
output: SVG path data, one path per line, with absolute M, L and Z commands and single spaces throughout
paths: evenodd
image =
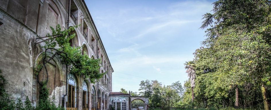
M 68 74 L 68 95 L 66 96 L 67 110 L 77 108 L 77 80 L 73 74 Z

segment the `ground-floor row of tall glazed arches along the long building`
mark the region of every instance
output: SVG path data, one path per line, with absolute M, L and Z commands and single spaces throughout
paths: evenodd
M 101 88 L 98 89 L 98 93 L 96 91 L 95 85 L 90 85 L 87 81 L 83 80 L 81 89 L 78 90 L 77 78 L 73 74 L 68 75 L 68 95 L 65 97 L 66 99 L 66 109 L 67 110 L 76 110 L 81 107 L 83 110 L 107 110 L 109 109 L 109 96 L 105 91 L 101 92 Z M 90 87 L 91 86 L 91 89 Z M 81 92 L 81 96 L 79 95 Z M 79 99 L 81 97 L 81 99 Z M 81 101 L 79 105 L 78 101 Z

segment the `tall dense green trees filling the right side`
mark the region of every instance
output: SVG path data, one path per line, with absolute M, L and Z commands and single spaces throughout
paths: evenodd
M 194 53 L 196 106 L 234 107 L 237 103 L 268 110 L 271 2 L 218 0 L 213 5 L 213 13 L 203 15 L 200 27 L 207 28 L 204 47 Z M 186 89 L 184 97 L 190 91 Z

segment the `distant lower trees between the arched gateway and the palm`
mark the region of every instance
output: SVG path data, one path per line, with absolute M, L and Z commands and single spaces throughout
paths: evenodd
M 157 80 L 141 81 L 139 84 L 140 95 L 149 98 L 149 107 L 161 107 L 163 110 L 169 107 L 181 107 L 184 88 L 180 81 L 171 85 L 162 85 Z

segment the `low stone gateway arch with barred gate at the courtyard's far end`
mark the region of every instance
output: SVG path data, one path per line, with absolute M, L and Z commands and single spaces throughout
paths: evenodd
M 133 103 L 133 101 L 138 101 Z M 141 103 L 140 101 L 143 101 Z M 147 110 L 149 106 L 149 99 L 144 96 L 130 96 L 130 110 Z

